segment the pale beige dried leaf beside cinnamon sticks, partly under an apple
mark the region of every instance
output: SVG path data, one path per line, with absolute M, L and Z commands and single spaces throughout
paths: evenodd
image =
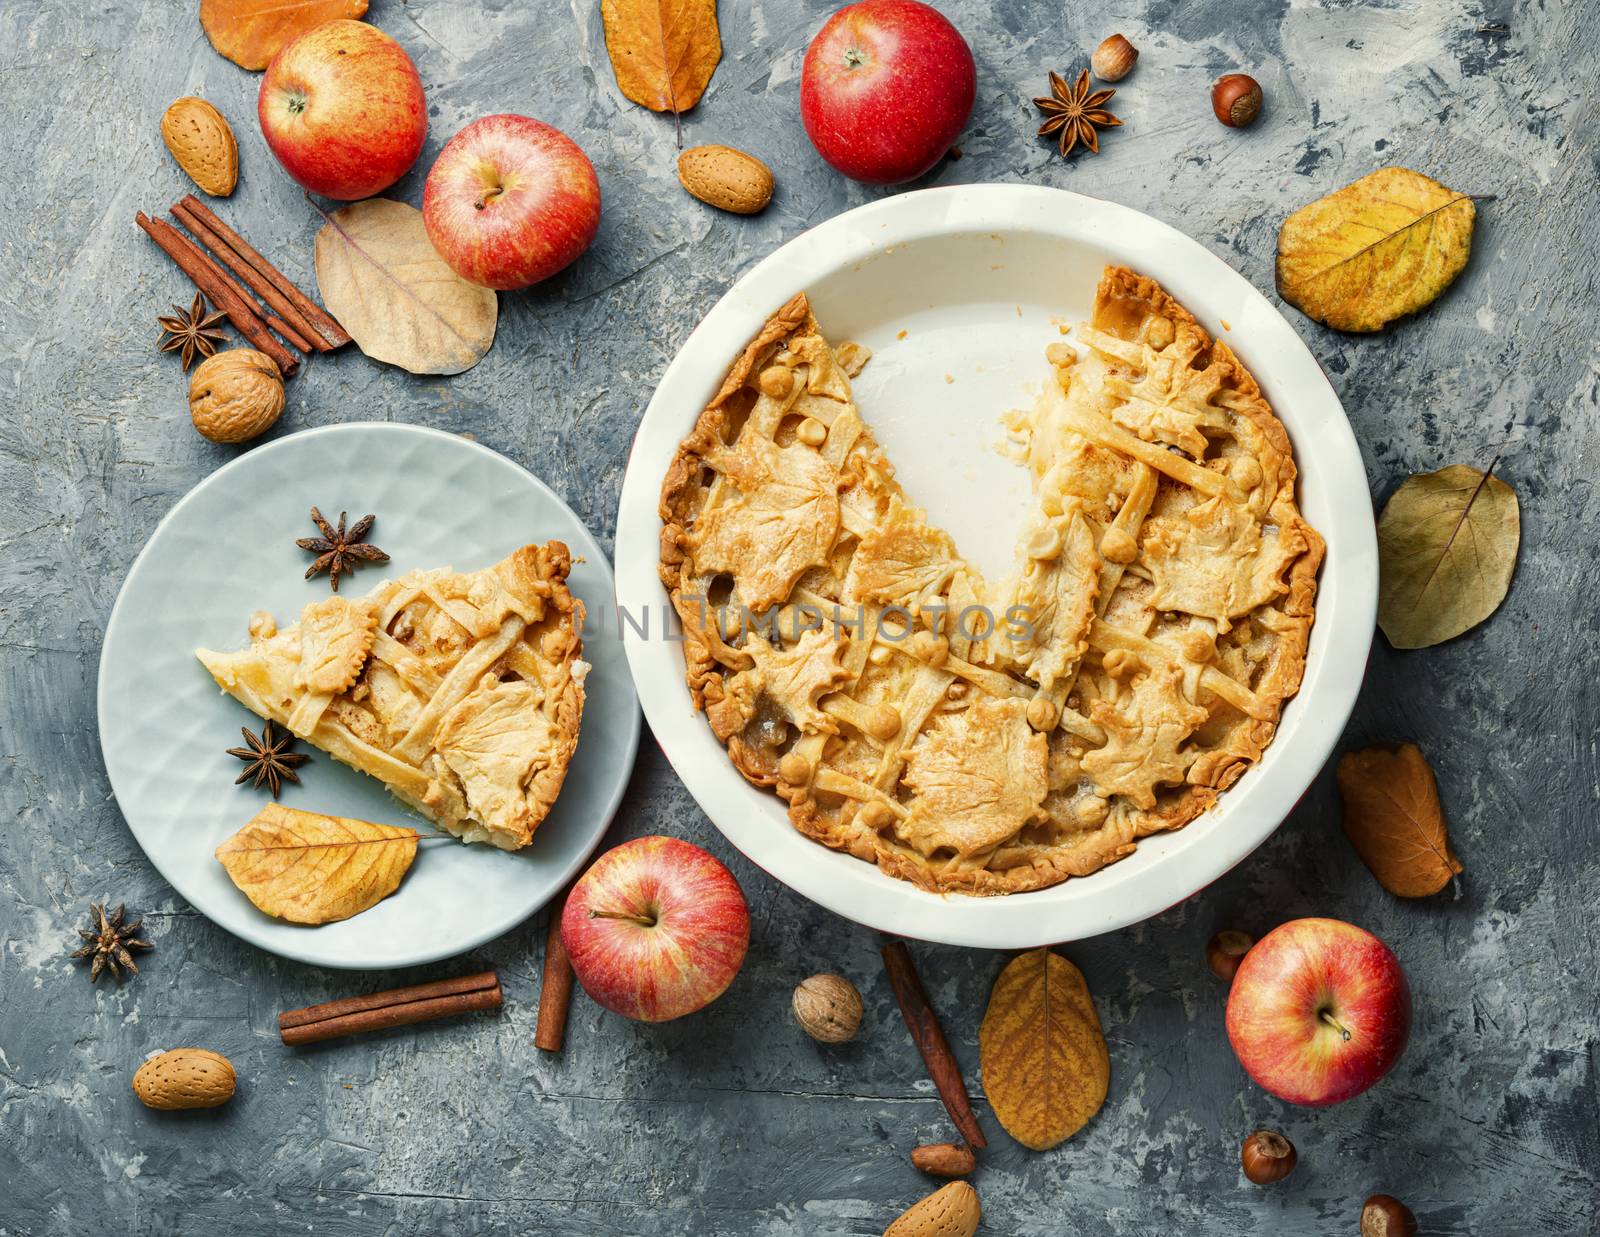
M 414 374 L 456 374 L 483 360 L 499 301 L 445 266 L 422 211 L 374 197 L 323 218 L 317 286 L 362 352 Z

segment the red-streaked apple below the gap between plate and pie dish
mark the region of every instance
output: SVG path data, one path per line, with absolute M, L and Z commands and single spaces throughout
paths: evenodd
M 602 855 L 573 885 L 562 943 L 584 992 L 642 1023 L 710 1005 L 739 973 L 750 912 L 733 874 L 675 837 Z

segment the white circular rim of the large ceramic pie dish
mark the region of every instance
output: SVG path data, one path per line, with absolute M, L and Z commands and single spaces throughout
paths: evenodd
M 746 272 L 690 333 L 656 387 L 640 419 L 629 454 L 618 509 L 618 603 L 666 606 L 656 574 L 656 512 L 666 458 L 710 398 L 730 360 L 762 322 L 789 296 L 854 262 L 896 245 L 982 230 L 1037 232 L 1102 248 L 1141 274 L 1162 282 L 1213 333 L 1224 317 L 1214 306 L 1250 312 L 1254 333 L 1250 368 L 1272 386 L 1293 386 L 1275 397 L 1275 410 L 1304 422 L 1291 427 L 1296 462 L 1315 474 L 1318 486 L 1362 496 L 1318 525 L 1328 541 L 1323 582 L 1336 573 L 1334 597 L 1318 592 L 1318 637 L 1326 643 L 1277 741 L 1251 778 L 1242 779 L 1222 805 L 1171 834 L 1141 842 L 1157 858 L 1128 869 L 1130 861 L 1085 879 L 1008 898 L 930 893 L 883 875 L 877 866 L 824 848 L 792 826 L 779 835 L 755 797 L 717 746 L 728 776 L 710 768 L 704 743 L 686 720 L 706 730 L 683 685 L 682 655 L 666 642 L 624 631 L 622 647 L 645 719 L 667 760 L 717 829 L 754 864 L 802 896 L 858 923 L 944 944 L 1026 949 L 1128 927 L 1184 901 L 1256 850 L 1282 824 L 1331 754 L 1360 691 L 1378 610 L 1378 542 L 1360 448 L 1331 382 L 1283 314 L 1254 285 L 1178 229 L 1131 206 L 1062 189 L 1011 184 L 925 189 L 883 198 L 838 214 L 782 245 Z M 1232 336 L 1230 342 L 1238 339 Z M 1270 354 L 1262 363 L 1262 354 Z M 677 674 L 664 674 L 664 658 L 677 656 Z M 709 735 L 709 731 L 707 731 Z M 730 783 L 731 778 L 738 786 Z M 738 787 L 744 787 L 741 792 Z M 1214 827 L 1227 819 L 1230 829 Z M 1205 827 L 1211 824 L 1213 827 Z M 798 843 L 798 845 L 795 845 Z M 1163 845 L 1165 843 L 1165 845 Z M 1134 871 L 1138 883 L 1118 879 Z M 1061 895 L 1072 890 L 1070 899 Z M 1053 899 L 1051 895 L 1056 895 Z

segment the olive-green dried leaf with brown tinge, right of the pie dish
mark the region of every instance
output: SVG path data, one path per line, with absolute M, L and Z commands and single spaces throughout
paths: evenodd
M 1461 635 L 1506 598 L 1522 515 L 1493 467 L 1406 477 L 1378 517 L 1378 626 L 1395 648 Z

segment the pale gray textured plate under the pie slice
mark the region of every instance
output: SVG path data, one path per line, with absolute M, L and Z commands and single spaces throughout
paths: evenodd
M 238 728 L 259 731 L 195 661 L 197 647 L 242 648 L 250 613 L 293 623 L 328 595 L 302 579 L 315 536 L 312 504 L 330 518 L 378 514 L 371 538 L 390 560 L 341 579 L 365 594 L 418 566 L 477 570 L 530 541 L 557 538 L 582 562 L 571 589 L 589 611 L 584 659 L 594 669 L 578 752 L 555 810 L 515 855 L 430 842 L 398 891 L 354 919 L 317 928 L 282 923 L 234 888 L 213 858 L 267 792 L 234 786 L 224 754 Z M 461 954 L 517 927 L 584 864 L 616 813 L 638 749 L 638 703 L 616 635 L 614 582 L 598 542 L 542 482 L 453 434 L 394 424 L 304 430 L 218 469 L 162 520 L 128 573 L 106 627 L 99 728 L 122 813 L 150 863 L 197 911 L 274 954 L 322 967 L 406 967 Z M 306 744 L 299 744 L 307 751 Z M 314 752 L 286 807 L 384 824 L 432 826 L 384 787 Z

